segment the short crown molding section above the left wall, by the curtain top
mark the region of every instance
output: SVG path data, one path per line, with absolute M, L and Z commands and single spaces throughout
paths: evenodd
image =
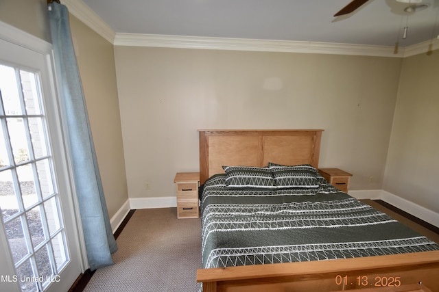
M 100 36 L 111 42 L 115 42 L 115 31 L 97 15 L 82 0 L 63 0 L 62 3 L 67 6 L 69 12 L 82 21 L 85 25 L 93 29 Z

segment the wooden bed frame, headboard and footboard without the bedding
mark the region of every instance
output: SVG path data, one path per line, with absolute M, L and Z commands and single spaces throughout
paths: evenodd
M 222 165 L 309 163 L 318 168 L 323 130 L 199 130 L 200 183 Z M 204 292 L 439 291 L 439 251 L 198 269 Z

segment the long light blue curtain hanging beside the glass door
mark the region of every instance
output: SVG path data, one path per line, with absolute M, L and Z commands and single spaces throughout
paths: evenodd
M 84 92 L 71 40 L 67 7 L 56 2 L 49 4 L 49 23 L 62 122 L 67 126 L 64 129 L 67 129 L 88 265 L 93 271 L 114 263 L 111 254 L 117 251 L 117 244 L 112 235 L 97 167 Z

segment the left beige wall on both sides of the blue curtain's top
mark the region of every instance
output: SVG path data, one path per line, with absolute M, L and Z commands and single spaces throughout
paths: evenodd
M 2 0 L 0 21 L 51 42 L 47 1 Z M 99 171 L 110 217 L 128 200 L 113 46 L 71 16 Z

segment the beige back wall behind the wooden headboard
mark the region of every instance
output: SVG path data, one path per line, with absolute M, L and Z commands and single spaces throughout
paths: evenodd
M 399 58 L 115 47 L 115 59 L 130 198 L 175 196 L 175 173 L 199 169 L 197 129 L 324 129 L 320 166 L 381 189 Z

